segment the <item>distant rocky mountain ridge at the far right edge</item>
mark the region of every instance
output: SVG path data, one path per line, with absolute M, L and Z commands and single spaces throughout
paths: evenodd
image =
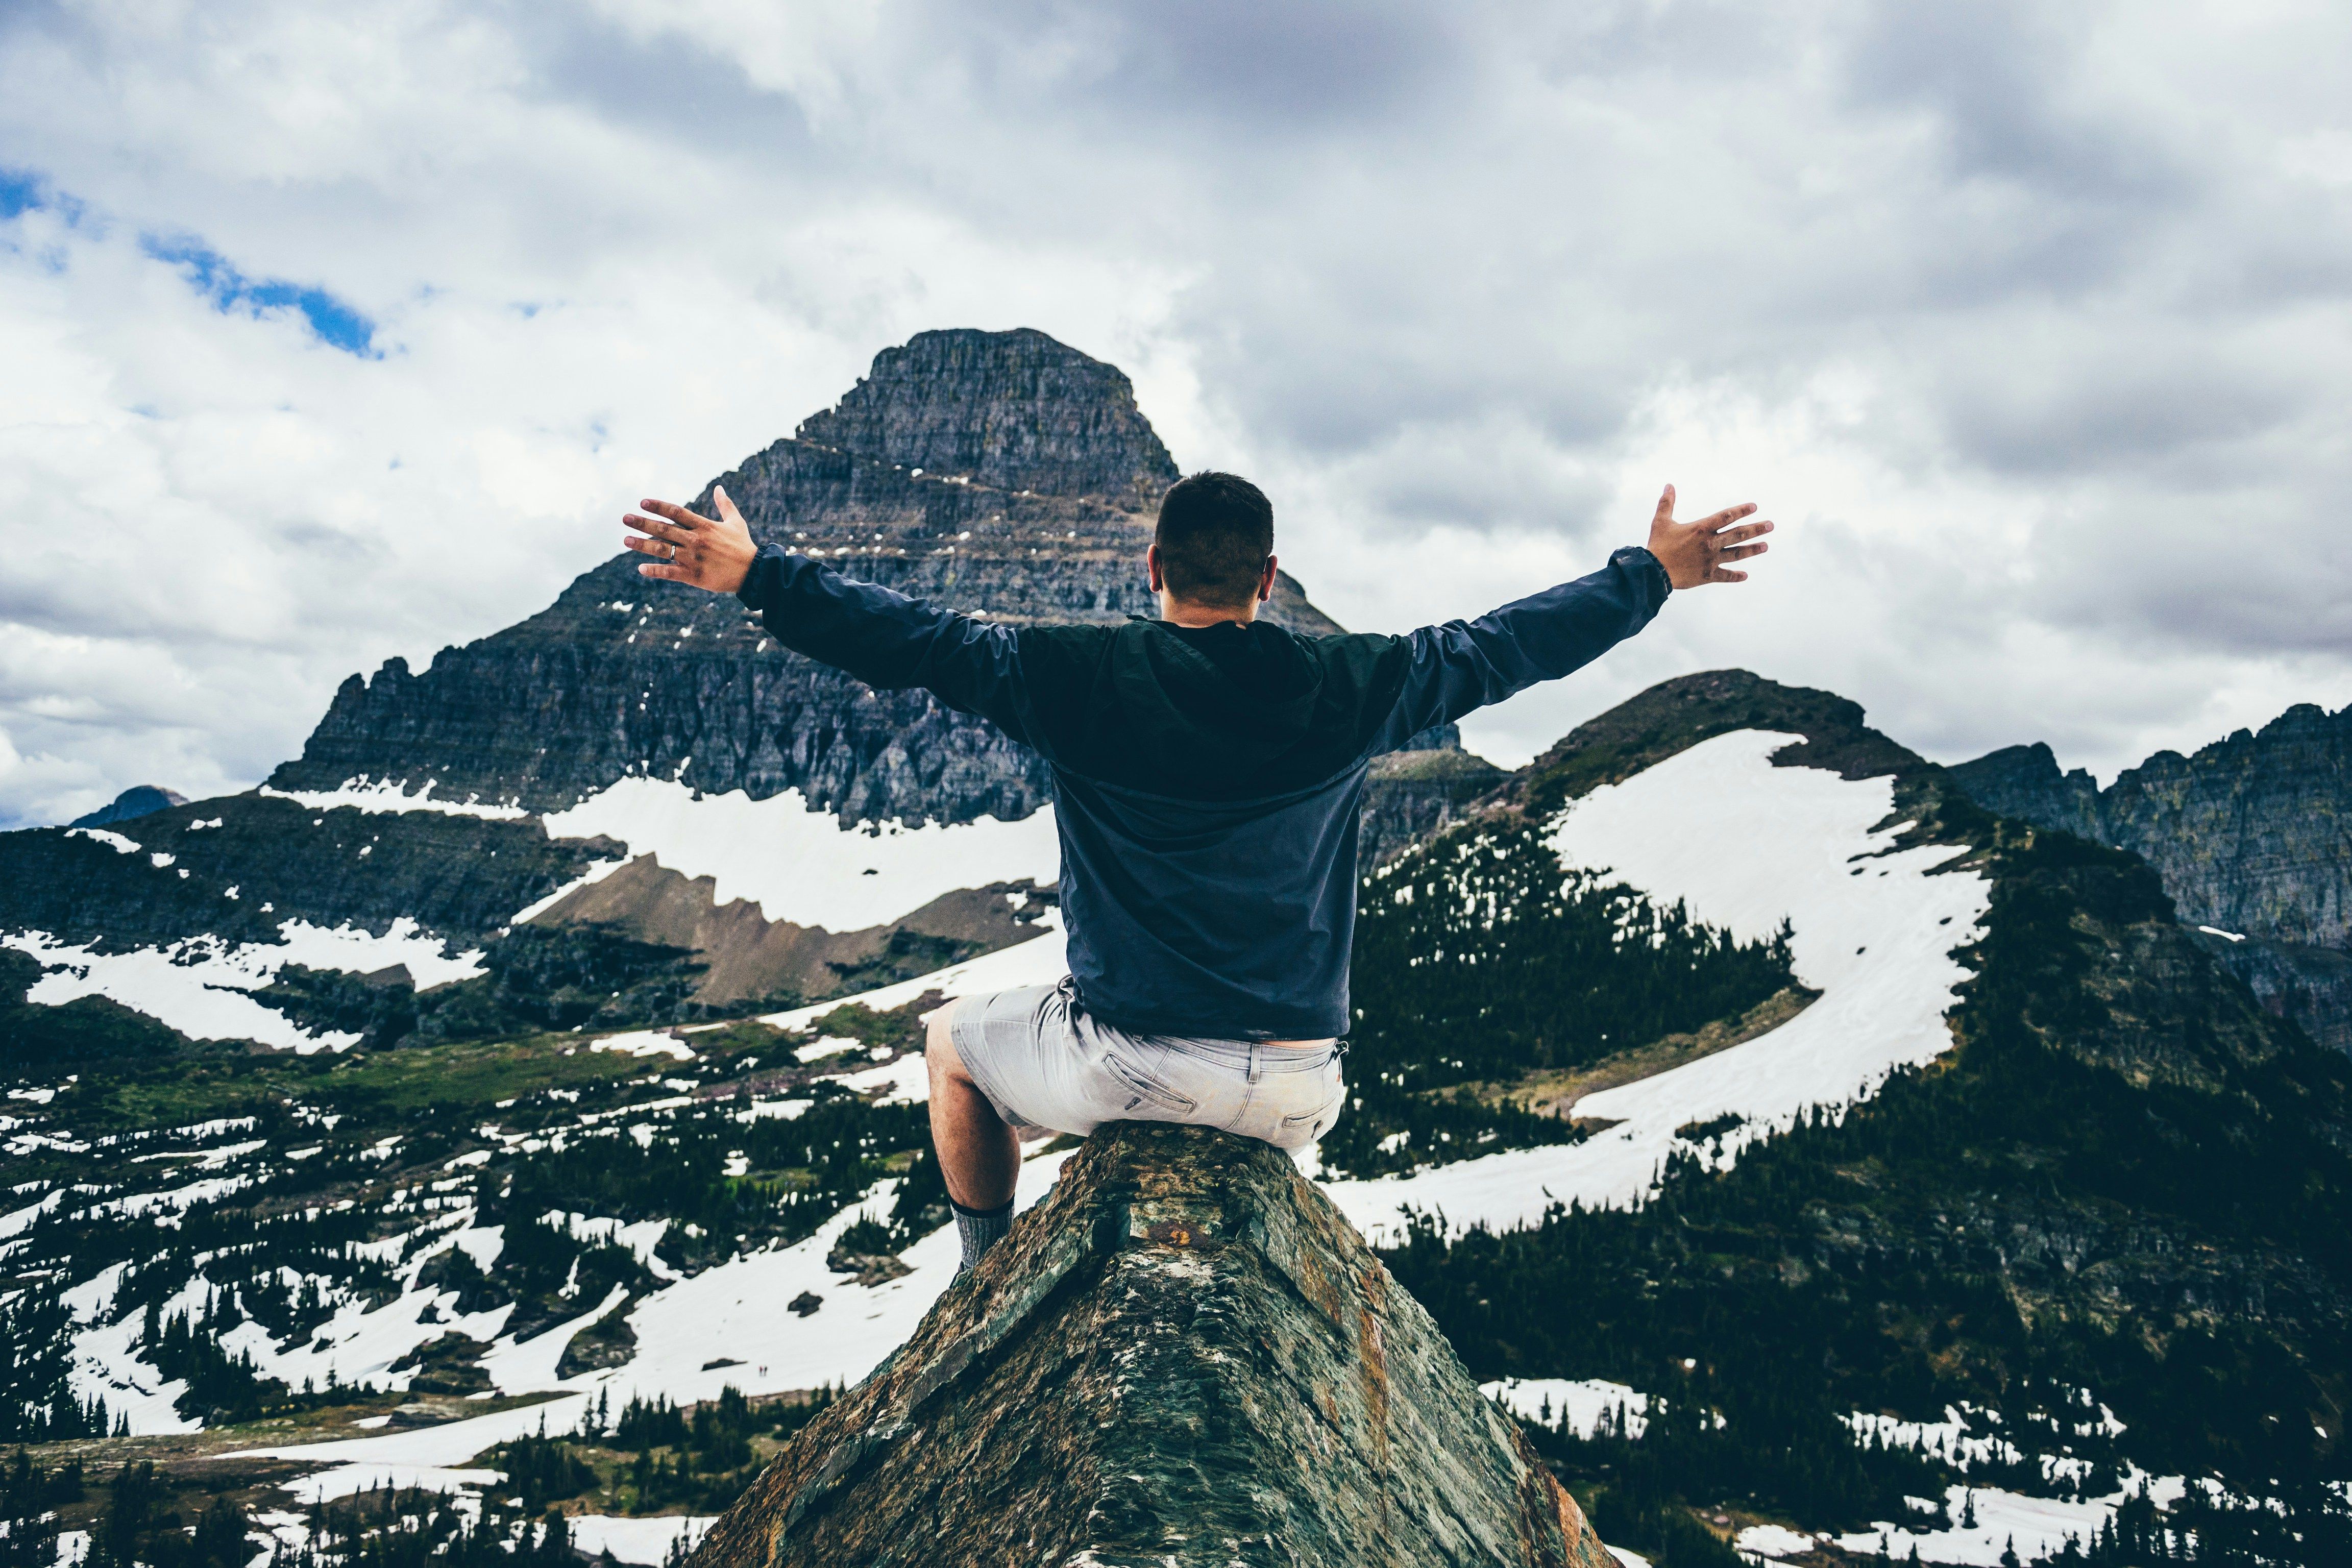
M 1987 811 L 2147 860 L 2265 1006 L 2352 1051 L 2352 708 L 2298 703 L 2105 790 L 2042 743 L 1962 762 L 1952 780 Z

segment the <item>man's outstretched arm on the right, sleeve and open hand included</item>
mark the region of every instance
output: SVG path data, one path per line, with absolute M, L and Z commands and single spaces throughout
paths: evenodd
M 1592 576 L 1545 588 L 1477 621 L 1425 625 L 1409 637 L 1411 665 L 1381 748 L 1578 670 L 1632 637 L 1672 588 L 1745 583 L 1729 562 L 1764 555 L 1771 522 L 1743 522 L 1755 503 L 1675 522 L 1675 487 L 1658 496 L 1646 548 L 1625 548 Z

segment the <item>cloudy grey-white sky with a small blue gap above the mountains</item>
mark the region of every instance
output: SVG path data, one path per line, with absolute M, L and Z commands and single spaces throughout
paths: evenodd
M 0 5 L 0 825 L 259 780 L 924 327 L 1122 364 L 1341 621 L 1776 552 L 1684 670 L 2100 776 L 2352 701 L 2343 5 Z M 1689 508 L 1686 508 L 1689 510 Z

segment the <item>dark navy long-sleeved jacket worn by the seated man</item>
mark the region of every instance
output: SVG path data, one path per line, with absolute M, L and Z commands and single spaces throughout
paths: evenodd
M 739 590 L 776 639 L 924 686 L 1054 776 L 1070 973 L 1141 1034 L 1348 1032 L 1364 769 L 1432 724 L 1592 663 L 1649 625 L 1665 569 L 1602 571 L 1409 637 L 1268 621 L 1009 628 L 767 545 Z

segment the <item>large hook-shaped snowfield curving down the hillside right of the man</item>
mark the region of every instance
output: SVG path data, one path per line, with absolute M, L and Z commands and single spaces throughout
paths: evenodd
M 1571 1114 L 1621 1126 L 1581 1145 L 1327 1182 L 1367 1237 L 1402 1237 L 1406 1208 L 1444 1213 L 1456 1234 L 1534 1225 L 1571 1199 L 1623 1208 L 1656 1190 L 1677 1126 L 1740 1117 L 1708 1154 L 1729 1168 L 1809 1110 L 1844 1110 L 1950 1048 L 1945 1013 L 1969 973 L 1952 950 L 1980 936 L 1992 884 L 1938 872 L 1962 849 L 1893 849 L 1903 823 L 1886 820 L 1891 778 L 1773 766 L 1792 743 L 1804 741 L 1745 729 L 1693 745 L 1571 804 L 1552 844 L 1562 865 L 1606 870 L 1658 903 L 1679 898 L 1740 940 L 1788 919 L 1797 980 L 1820 999 L 1743 1046 L 1585 1095 Z

